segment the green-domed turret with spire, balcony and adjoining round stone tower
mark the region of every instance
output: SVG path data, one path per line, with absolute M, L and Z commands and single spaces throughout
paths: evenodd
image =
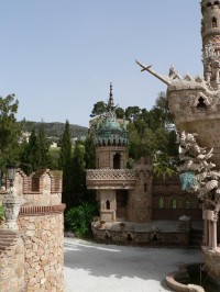
M 96 169 L 87 170 L 87 188 L 97 190 L 102 221 L 150 221 L 151 164 L 146 159 L 141 159 L 133 169 L 127 169 L 128 122 L 117 119 L 116 109 L 110 85 L 106 113 L 91 121 Z

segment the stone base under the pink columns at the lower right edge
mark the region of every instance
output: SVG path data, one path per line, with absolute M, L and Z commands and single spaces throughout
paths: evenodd
M 213 251 L 209 250 L 207 246 L 202 246 L 201 251 L 206 271 L 220 285 L 220 248 L 218 248 L 218 251 Z

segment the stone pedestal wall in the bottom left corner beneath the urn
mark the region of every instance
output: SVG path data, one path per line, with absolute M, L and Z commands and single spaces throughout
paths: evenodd
M 6 234 L 0 232 L 0 239 L 6 242 Z M 8 236 L 10 237 L 10 236 Z M 0 252 L 0 291 L 24 292 L 24 244 L 21 236 L 7 244 L 6 250 Z

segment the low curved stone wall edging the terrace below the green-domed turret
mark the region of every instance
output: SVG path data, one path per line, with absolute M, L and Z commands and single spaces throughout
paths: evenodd
M 112 243 L 118 245 L 151 245 L 151 246 L 188 246 L 190 242 L 189 232 L 144 232 L 101 228 L 99 224 L 92 224 L 95 240 L 99 243 Z

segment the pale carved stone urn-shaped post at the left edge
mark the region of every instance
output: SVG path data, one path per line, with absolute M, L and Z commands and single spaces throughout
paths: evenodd
M 4 210 L 4 218 L 1 226 L 1 231 L 19 231 L 19 226 L 16 224 L 16 218 L 19 215 L 20 206 L 24 202 L 24 199 L 20 198 L 14 188 L 10 188 L 8 194 L 4 196 L 2 201 L 3 210 Z

